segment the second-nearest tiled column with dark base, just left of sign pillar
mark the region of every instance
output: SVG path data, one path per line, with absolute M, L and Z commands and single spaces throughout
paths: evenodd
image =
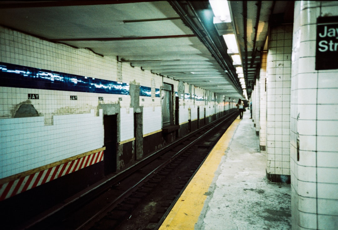
M 267 178 L 290 181 L 292 25 L 270 28 L 267 81 Z

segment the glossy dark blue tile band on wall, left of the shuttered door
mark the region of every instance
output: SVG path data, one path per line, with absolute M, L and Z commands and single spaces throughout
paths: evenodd
M 0 62 L 0 86 L 129 95 L 129 84 Z M 151 88 L 140 95 L 151 96 Z M 156 89 L 160 97 L 160 89 Z

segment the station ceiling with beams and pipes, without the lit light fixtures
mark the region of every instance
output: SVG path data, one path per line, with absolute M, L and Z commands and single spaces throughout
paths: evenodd
M 236 66 L 221 36 L 235 33 L 250 98 L 266 49 L 268 22 L 290 21 L 293 11 L 285 13 L 293 9 L 290 4 L 230 1 L 233 23 L 213 24 L 208 1 L 1 1 L 0 24 L 243 98 Z

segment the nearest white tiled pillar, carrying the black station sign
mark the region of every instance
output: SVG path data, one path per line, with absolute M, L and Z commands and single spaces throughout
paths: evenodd
M 337 1 L 295 2 L 290 126 L 293 230 L 338 229 L 338 67 L 315 70 L 317 18 L 328 16 L 338 16 Z M 332 38 L 335 43 L 336 37 L 337 33 Z

